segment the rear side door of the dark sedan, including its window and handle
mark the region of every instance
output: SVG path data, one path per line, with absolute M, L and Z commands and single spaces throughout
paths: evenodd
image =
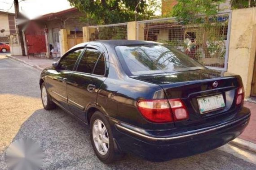
M 85 110 L 97 101 L 97 91 L 106 80 L 106 59 L 100 48 L 87 46 L 79 64 L 67 81 L 71 112 L 86 122 Z

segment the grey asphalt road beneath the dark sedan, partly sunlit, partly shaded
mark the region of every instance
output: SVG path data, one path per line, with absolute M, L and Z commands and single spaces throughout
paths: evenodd
M 229 145 L 160 163 L 127 155 L 105 165 L 93 153 L 88 129 L 61 109 L 43 109 L 39 75 L 35 68 L 0 56 L 0 170 L 7 170 L 7 147 L 20 138 L 41 145 L 43 170 L 256 170 L 255 154 Z

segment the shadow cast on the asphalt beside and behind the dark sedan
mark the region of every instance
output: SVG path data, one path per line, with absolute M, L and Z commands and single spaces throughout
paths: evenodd
M 51 111 L 36 110 L 22 123 L 13 141 L 20 138 L 31 138 L 41 145 L 44 152 L 43 170 L 240 170 L 241 168 L 250 170 L 252 167 L 256 168 L 255 165 L 218 149 L 166 162 L 150 162 L 126 155 L 115 163 L 105 165 L 93 153 L 87 127 L 59 108 Z M 4 162 L 4 153 L 5 151 L 0 153 L 0 162 Z M 0 166 L 6 168 L 5 164 L 0 163 Z

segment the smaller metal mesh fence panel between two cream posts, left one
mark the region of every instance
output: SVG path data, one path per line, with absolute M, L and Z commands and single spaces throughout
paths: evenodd
M 89 26 L 88 28 L 90 41 L 127 39 L 127 23 Z

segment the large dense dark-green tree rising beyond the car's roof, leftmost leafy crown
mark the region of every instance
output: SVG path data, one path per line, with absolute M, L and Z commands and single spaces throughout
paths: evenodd
M 72 6 L 87 14 L 97 24 L 115 24 L 135 20 L 139 0 L 68 0 Z M 138 20 L 150 19 L 158 7 L 157 0 L 141 0 Z

